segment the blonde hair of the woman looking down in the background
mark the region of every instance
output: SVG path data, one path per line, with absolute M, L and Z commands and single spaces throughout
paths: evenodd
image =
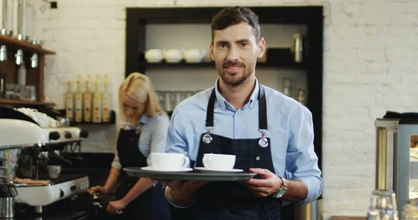
M 125 109 L 123 108 L 123 95 L 127 95 L 132 100 L 137 102 L 143 102 L 146 104 L 145 115 L 153 117 L 155 115 L 167 115 L 162 110 L 160 102 L 158 102 L 157 95 L 155 95 L 155 89 L 153 82 L 145 74 L 139 72 L 132 72 L 123 81 L 119 87 L 119 110 L 121 112 L 122 119 L 127 120 Z

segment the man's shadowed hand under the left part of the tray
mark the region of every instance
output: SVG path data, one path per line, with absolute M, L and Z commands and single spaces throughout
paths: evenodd
M 189 205 L 194 193 L 209 181 L 156 180 L 166 185 L 167 199 L 176 205 Z

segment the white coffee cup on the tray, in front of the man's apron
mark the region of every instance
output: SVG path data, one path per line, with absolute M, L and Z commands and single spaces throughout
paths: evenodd
M 210 170 L 229 171 L 235 166 L 235 155 L 204 154 L 202 162 Z

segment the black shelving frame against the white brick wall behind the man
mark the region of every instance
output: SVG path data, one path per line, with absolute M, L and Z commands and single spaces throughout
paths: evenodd
M 222 7 L 223 8 L 223 7 Z M 210 68 L 213 63 L 146 63 L 147 24 L 210 24 L 212 16 L 222 8 L 127 8 L 125 76 L 132 72 L 146 74 L 149 68 Z M 304 38 L 306 54 L 302 64 L 257 63 L 257 68 L 292 68 L 304 70 L 309 91 L 307 108 L 314 121 L 314 145 L 322 168 L 323 134 L 323 6 L 271 6 L 249 7 L 259 17 L 261 24 L 304 24 L 307 33 Z M 263 31 L 261 31 L 263 33 Z M 193 36 L 191 36 L 192 38 Z M 286 58 L 286 57 L 285 57 Z M 281 60 L 276 59 L 277 61 Z M 183 80 L 183 79 L 182 79 Z M 168 112 L 171 115 L 171 112 Z M 292 205 L 286 206 L 281 219 L 293 219 Z

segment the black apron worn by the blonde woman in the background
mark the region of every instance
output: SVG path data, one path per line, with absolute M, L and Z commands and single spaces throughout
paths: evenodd
M 122 167 L 147 166 L 146 157 L 139 151 L 139 129 L 121 129 L 119 131 L 117 150 Z M 137 132 L 138 131 L 138 132 Z M 123 198 L 138 182 L 121 169 L 121 178 L 116 189 L 116 199 Z M 116 219 L 170 220 L 169 203 L 164 196 L 162 184 L 158 182 L 130 202 L 122 214 L 115 214 Z

